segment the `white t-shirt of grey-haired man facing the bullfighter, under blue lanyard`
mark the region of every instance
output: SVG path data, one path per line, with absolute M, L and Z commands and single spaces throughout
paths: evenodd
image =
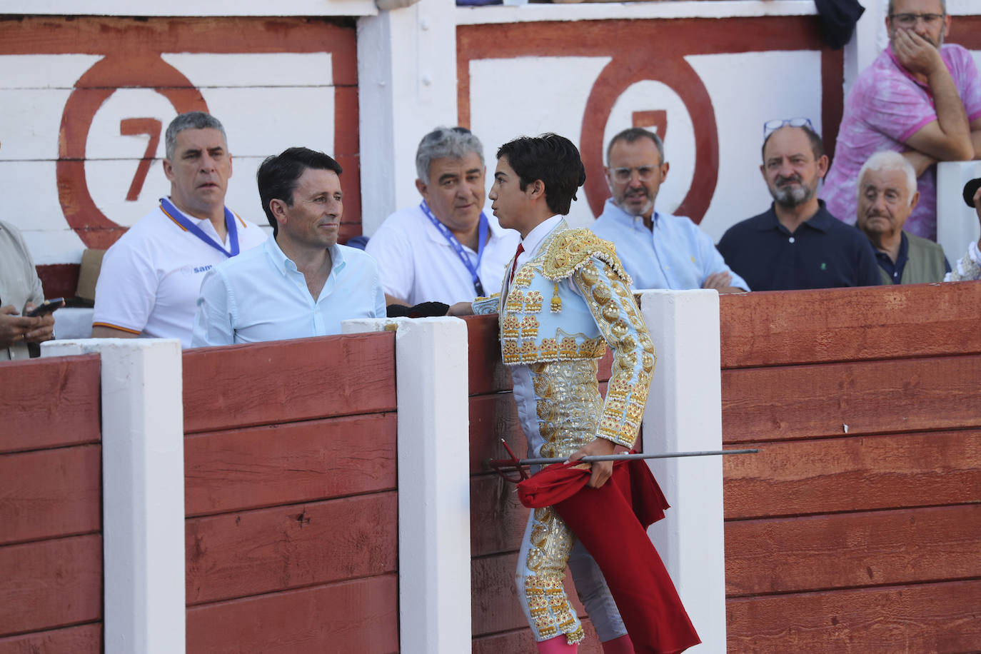
M 485 295 L 500 290 L 504 268 L 521 240 L 517 231 L 504 229 L 490 215 L 488 226 L 490 235 L 477 269 Z M 476 264 L 477 253 L 466 245 L 463 249 Z M 418 205 L 389 216 L 365 250 L 378 262 L 385 292 L 410 305 L 470 302 L 477 296 L 470 271 Z

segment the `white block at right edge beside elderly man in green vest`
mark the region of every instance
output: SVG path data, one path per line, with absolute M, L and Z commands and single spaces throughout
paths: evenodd
M 942 161 L 937 164 L 937 242 L 951 267 L 977 241 L 977 213 L 964 204 L 964 184 L 981 177 L 981 161 Z

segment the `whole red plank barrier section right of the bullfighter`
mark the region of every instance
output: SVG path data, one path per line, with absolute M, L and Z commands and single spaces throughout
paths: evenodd
M 981 284 L 721 298 L 728 651 L 981 650 Z

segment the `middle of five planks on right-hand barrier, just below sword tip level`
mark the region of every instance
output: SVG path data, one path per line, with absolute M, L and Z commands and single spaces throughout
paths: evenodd
M 727 519 L 981 502 L 981 431 L 759 444 L 723 458 Z

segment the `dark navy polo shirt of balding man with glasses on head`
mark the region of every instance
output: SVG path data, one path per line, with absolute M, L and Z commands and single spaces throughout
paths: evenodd
M 828 213 L 824 200 L 794 233 L 769 211 L 729 227 L 719 241 L 726 263 L 753 290 L 877 286 L 872 244 L 858 229 Z

